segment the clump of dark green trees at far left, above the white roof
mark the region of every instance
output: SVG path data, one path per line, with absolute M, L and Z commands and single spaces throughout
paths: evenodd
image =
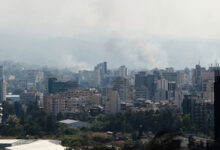
M 56 133 L 59 124 L 52 116 L 40 110 L 37 103 L 30 103 L 26 111 L 21 104 L 3 103 L 3 124 L 0 125 L 2 136 L 43 137 Z

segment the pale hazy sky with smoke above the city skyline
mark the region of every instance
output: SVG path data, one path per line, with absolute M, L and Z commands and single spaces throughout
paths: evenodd
M 192 67 L 220 57 L 219 0 L 0 0 L 0 60 Z

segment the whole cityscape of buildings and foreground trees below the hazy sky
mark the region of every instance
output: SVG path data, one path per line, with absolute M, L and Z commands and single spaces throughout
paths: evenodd
M 2 62 L 1 139 L 23 140 L 0 146 L 50 139 L 67 149 L 211 150 L 218 70 L 218 63 L 137 71 L 102 62 L 74 72 Z

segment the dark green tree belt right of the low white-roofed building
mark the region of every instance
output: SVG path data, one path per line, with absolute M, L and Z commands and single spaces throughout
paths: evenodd
M 205 133 L 207 129 L 196 128 L 191 122 L 190 116 L 182 116 L 173 113 L 172 110 L 146 111 L 146 112 L 126 112 L 109 115 L 99 115 L 92 121 L 92 131 L 113 131 L 131 133 L 133 138 L 152 132 L 172 129 L 177 133 Z M 209 129 L 209 133 L 212 131 Z

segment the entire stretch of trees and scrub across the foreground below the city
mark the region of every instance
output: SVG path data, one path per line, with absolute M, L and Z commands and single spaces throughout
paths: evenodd
M 181 116 L 169 109 L 157 112 L 128 111 L 126 113 L 101 114 L 90 120 L 92 124 L 90 129 L 64 127 L 58 122 L 63 118 L 62 114 L 52 117 L 39 109 L 37 103 L 34 102 L 27 106 L 22 106 L 17 102 L 12 104 L 3 102 L 3 123 L 0 125 L 0 135 L 22 139 L 58 139 L 62 141 L 62 145 L 70 147 L 69 149 L 95 145 L 94 150 L 114 150 L 114 146 L 106 147 L 106 145 L 120 145 L 122 150 L 154 150 L 158 148 L 175 150 L 180 146 L 179 140 L 175 139 L 179 133 L 204 134 L 202 130 L 192 124 L 189 115 Z M 168 132 L 167 129 L 172 129 L 172 132 Z M 112 134 L 107 134 L 107 131 L 111 131 Z M 152 140 L 146 145 L 140 143 L 142 137 Z M 117 143 L 117 141 L 123 142 Z M 190 143 L 192 149 L 197 147 L 192 143 Z

